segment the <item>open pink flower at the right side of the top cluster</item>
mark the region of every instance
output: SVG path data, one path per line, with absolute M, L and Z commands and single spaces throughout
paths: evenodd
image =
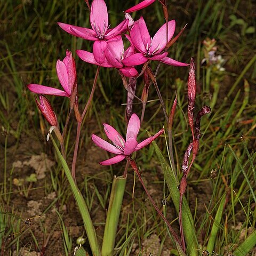
M 171 38 L 175 31 L 175 20 L 168 22 L 168 42 L 171 41 Z M 167 52 L 163 52 L 166 46 L 166 23 L 159 28 L 157 33 L 153 38 L 150 37 L 147 25 L 143 17 L 140 17 L 138 22 L 135 22 L 131 28 L 131 41 L 134 47 L 139 51 L 130 55 L 130 57 L 123 60 L 123 64 L 126 66 L 137 65 L 138 60 L 145 63 L 147 60 L 158 60 L 164 62 L 167 65 L 172 66 L 188 66 L 187 63 L 182 63 L 177 60 L 173 60 L 167 56 Z

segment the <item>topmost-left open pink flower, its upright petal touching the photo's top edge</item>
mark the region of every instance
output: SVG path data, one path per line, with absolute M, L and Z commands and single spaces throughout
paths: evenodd
M 59 26 L 67 33 L 82 37 L 86 40 L 95 41 L 93 44 L 93 55 L 95 60 L 102 64 L 105 60 L 108 39 L 123 33 L 127 29 L 129 20 L 122 21 L 113 29 L 108 29 L 108 10 L 103 0 L 93 0 L 91 5 L 90 22 L 92 29 L 82 28 L 58 22 Z

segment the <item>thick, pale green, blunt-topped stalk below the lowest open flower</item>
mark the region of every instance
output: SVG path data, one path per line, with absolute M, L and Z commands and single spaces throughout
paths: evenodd
M 126 176 L 127 177 L 127 176 Z M 108 205 L 107 220 L 104 230 L 101 254 L 102 256 L 112 256 L 114 254 L 116 231 L 123 202 L 126 177 L 114 176 L 111 194 Z

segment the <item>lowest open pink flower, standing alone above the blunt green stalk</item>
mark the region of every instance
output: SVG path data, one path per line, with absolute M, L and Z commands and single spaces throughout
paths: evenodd
M 98 147 L 109 151 L 110 153 L 114 153 L 117 156 L 100 162 L 101 165 L 111 165 L 121 162 L 126 156 L 130 156 L 134 151 L 138 151 L 139 149 L 146 147 L 164 132 L 164 129 L 161 129 L 153 137 L 149 137 L 148 139 L 138 143 L 137 135 L 140 130 L 140 119 L 136 114 L 132 114 L 128 123 L 126 141 L 112 126 L 108 124 L 103 124 L 103 126 L 107 137 L 114 145 L 94 134 L 92 134 L 92 140 Z

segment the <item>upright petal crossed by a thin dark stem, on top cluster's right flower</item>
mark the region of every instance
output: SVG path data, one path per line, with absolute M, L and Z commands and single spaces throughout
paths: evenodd
M 175 20 L 168 22 L 168 42 L 171 41 L 175 31 Z M 150 53 L 160 53 L 166 46 L 166 23 L 158 29 L 157 33 L 152 39 L 152 45 L 150 47 Z

